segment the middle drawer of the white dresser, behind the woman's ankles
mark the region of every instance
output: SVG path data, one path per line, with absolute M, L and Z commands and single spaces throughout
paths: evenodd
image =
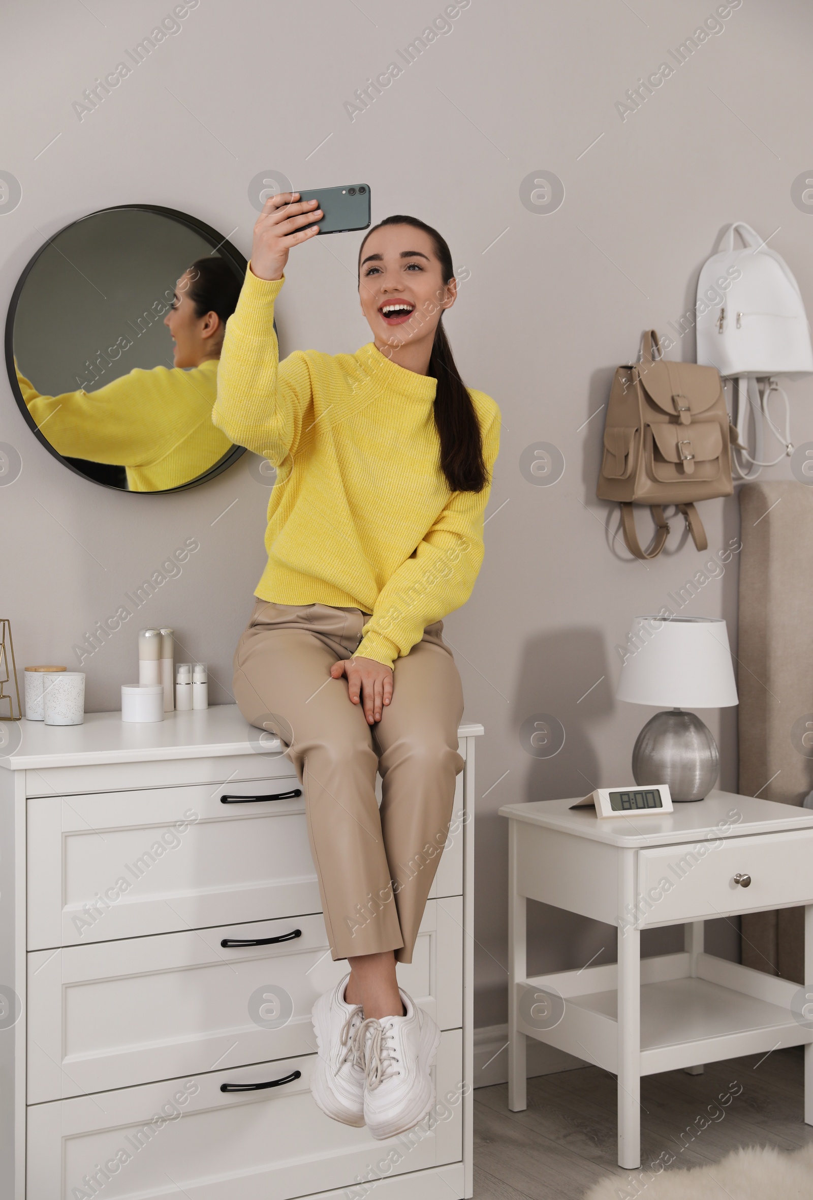
M 463 1022 L 462 920 L 462 898 L 430 900 L 414 960 L 398 965 L 441 1028 Z M 28 1102 L 311 1054 L 313 1003 L 347 971 L 321 914 L 29 953 Z

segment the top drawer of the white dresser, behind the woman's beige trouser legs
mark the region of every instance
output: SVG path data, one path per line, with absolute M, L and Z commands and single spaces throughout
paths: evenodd
M 287 775 L 29 798 L 28 948 L 320 912 L 295 792 Z M 462 773 L 454 814 L 432 898 L 463 893 Z

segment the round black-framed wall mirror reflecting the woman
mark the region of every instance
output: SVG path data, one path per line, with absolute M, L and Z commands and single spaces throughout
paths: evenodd
M 17 403 L 71 470 L 128 492 L 192 487 L 243 450 L 211 420 L 246 259 L 173 209 L 102 209 L 50 238 L 6 323 Z

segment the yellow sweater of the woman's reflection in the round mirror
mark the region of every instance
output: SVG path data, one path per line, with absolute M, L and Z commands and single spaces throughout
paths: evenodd
M 217 359 L 188 371 L 137 367 L 96 391 L 41 396 L 17 372 L 31 418 L 58 454 L 126 467 L 131 492 L 162 492 L 203 475 L 231 443 L 211 422 Z

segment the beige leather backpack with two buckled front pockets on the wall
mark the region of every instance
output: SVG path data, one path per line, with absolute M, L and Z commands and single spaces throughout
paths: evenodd
M 655 348 L 655 355 L 652 354 Z M 654 329 L 644 334 L 640 362 L 619 367 L 613 380 L 596 494 L 621 505 L 624 540 L 636 558 L 655 558 L 669 526 L 664 504 L 676 504 L 698 550 L 706 550 L 695 500 L 730 496 L 731 454 L 725 395 L 716 367 L 667 362 Z M 648 504 L 657 526 L 642 550 L 633 504 Z

